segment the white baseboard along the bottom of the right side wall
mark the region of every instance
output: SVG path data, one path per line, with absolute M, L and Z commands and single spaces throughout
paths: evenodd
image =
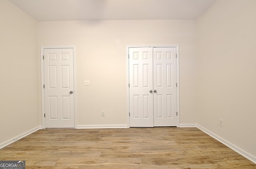
M 202 130 L 204 133 L 210 135 L 214 139 L 220 141 L 222 144 L 228 146 L 230 149 L 232 149 L 232 150 L 236 151 L 237 153 L 239 153 L 240 155 L 244 156 L 248 160 L 252 161 L 253 163 L 256 163 L 256 157 L 254 155 L 251 155 L 250 153 L 244 151 L 240 147 L 237 147 L 236 145 L 234 145 L 234 144 L 230 143 L 229 141 L 219 137 L 218 135 L 212 133 L 211 131 L 207 130 L 206 128 L 204 128 L 200 125 L 196 125 L 196 127 L 198 129 Z

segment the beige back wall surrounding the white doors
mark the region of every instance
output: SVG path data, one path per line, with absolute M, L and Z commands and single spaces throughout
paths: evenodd
M 123 125 L 128 109 L 126 45 L 178 44 L 180 123 L 195 123 L 195 28 L 194 20 L 39 22 L 38 45 L 76 46 L 78 125 Z

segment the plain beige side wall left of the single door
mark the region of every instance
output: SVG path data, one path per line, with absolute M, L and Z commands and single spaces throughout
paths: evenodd
M 0 144 L 40 125 L 37 22 L 0 0 Z

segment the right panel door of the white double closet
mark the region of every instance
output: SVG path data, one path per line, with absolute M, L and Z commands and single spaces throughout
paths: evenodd
M 154 126 L 177 126 L 176 48 L 153 49 Z

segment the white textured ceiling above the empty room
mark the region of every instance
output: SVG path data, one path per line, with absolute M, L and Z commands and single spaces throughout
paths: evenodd
M 215 0 L 10 0 L 37 21 L 194 20 Z

